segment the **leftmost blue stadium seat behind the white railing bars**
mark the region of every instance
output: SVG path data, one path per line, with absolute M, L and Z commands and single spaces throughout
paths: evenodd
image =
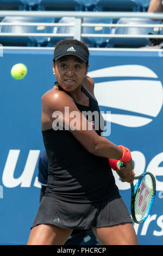
M 2 22 L 44 22 L 54 23 L 54 18 L 41 17 L 5 17 Z M 46 26 L 2 26 L 2 33 L 52 33 L 53 27 Z M 48 37 L 46 36 L 0 36 L 0 42 L 4 46 L 46 46 Z

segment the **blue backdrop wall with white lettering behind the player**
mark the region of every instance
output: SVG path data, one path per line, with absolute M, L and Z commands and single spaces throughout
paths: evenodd
M 5 49 L 0 57 L 1 245 L 26 245 L 39 206 L 41 96 L 55 81 L 52 56 L 49 48 Z M 10 75 L 17 63 L 28 68 L 22 80 Z M 140 245 L 163 244 L 162 64 L 158 51 L 90 51 L 89 75 L 106 124 L 111 121 L 104 136 L 131 150 L 136 175 L 147 169 L 156 178 L 151 214 L 145 223 L 134 224 Z M 130 210 L 130 185 L 114 175 Z

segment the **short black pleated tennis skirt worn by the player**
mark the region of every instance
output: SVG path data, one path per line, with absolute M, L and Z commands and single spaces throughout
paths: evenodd
M 39 205 L 32 228 L 39 224 L 52 224 L 66 229 L 91 229 L 133 222 L 118 194 L 95 203 L 71 203 L 44 196 Z

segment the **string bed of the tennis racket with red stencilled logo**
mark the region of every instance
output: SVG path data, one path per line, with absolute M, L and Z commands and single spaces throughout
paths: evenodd
M 142 221 L 152 205 L 152 197 L 154 194 L 154 184 L 151 175 L 147 174 L 136 188 L 135 196 L 135 217 L 137 221 Z

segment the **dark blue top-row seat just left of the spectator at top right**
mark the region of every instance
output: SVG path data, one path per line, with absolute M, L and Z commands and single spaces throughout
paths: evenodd
M 142 11 L 139 0 L 97 0 L 97 11 Z

